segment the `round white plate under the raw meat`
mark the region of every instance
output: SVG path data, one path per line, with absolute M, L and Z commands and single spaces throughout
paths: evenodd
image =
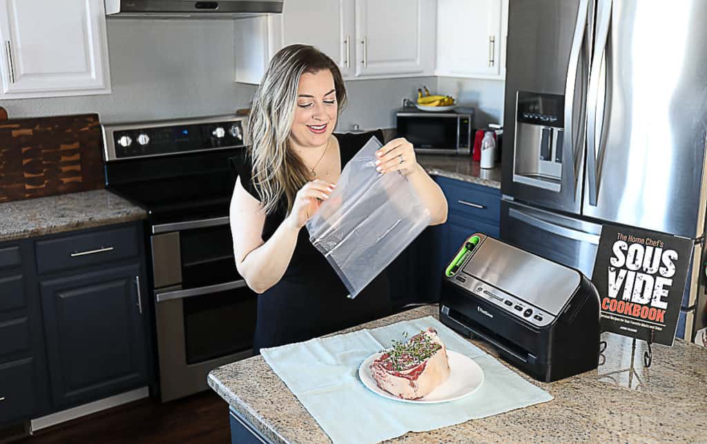
M 378 384 L 375 383 L 373 376 L 370 375 L 370 363 L 375 361 L 382 353 L 382 351 L 379 351 L 378 353 L 368 356 L 366 361 L 363 361 L 361 367 L 358 368 L 358 378 L 361 378 L 363 385 L 368 387 L 371 392 L 382 397 L 414 404 L 436 404 L 438 402 L 449 402 L 469 396 L 484 383 L 484 370 L 481 370 L 479 364 L 475 363 L 472 358 L 468 356 L 457 353 L 456 351 L 447 350 L 450 368 L 449 378 L 425 397 L 421 397 L 420 399 L 402 399 L 382 390 L 378 387 Z

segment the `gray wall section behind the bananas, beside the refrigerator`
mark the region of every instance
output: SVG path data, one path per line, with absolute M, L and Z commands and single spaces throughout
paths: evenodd
M 440 77 L 437 88 L 440 94 L 456 97 L 460 105 L 476 108 L 474 123 L 477 128 L 489 123 L 503 123 L 505 81 Z

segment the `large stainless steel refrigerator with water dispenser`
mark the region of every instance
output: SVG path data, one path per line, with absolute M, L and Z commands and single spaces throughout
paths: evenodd
M 588 276 L 602 223 L 694 241 L 705 322 L 707 1 L 510 0 L 501 238 Z

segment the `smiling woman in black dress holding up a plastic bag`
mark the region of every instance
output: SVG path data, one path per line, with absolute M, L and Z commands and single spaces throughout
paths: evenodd
M 291 45 L 270 62 L 253 99 L 245 159 L 238 173 L 230 224 L 238 272 L 258 298 L 254 349 L 304 341 L 391 312 L 385 274 L 355 299 L 308 238 L 305 223 L 329 198 L 344 165 L 380 130 L 332 134 L 346 103 L 337 65 L 314 47 Z M 407 175 L 444 223 L 447 201 L 416 163 L 405 139 L 382 146 L 380 173 Z M 397 173 L 396 173 L 397 174 Z

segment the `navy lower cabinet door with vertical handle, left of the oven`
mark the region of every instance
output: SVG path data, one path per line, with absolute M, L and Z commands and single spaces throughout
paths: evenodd
M 148 382 L 139 262 L 40 281 L 54 409 Z

